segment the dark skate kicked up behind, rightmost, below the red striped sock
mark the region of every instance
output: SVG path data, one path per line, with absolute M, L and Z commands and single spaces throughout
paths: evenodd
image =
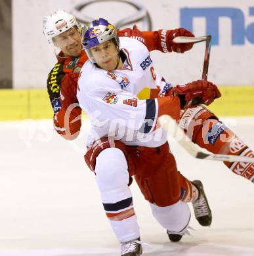
M 205 191 L 203 190 L 203 184 L 201 181 L 192 181 L 192 183 L 198 188 L 199 192 L 198 199 L 192 202 L 195 217 L 201 226 L 210 226 L 212 214 L 205 196 Z

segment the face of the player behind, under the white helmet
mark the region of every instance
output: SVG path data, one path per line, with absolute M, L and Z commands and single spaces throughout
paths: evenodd
M 77 57 L 81 54 L 81 35 L 76 28 L 70 28 L 53 38 L 54 45 L 61 49 L 66 57 Z

